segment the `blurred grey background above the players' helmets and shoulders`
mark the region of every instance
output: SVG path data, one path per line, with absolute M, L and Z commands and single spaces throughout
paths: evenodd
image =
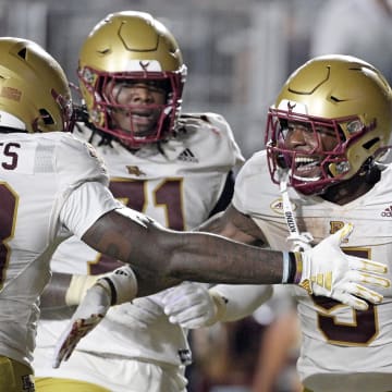
M 387 63 L 391 75 L 392 19 L 379 7 L 382 2 L 0 0 L 0 35 L 37 41 L 63 65 L 70 79 L 76 82 L 78 48 L 99 20 L 122 10 L 150 12 L 172 30 L 182 48 L 188 68 L 184 110 L 223 114 L 248 158 L 264 146 L 268 106 L 287 75 L 313 54 L 315 35 L 323 29 L 322 25 L 330 29 L 327 41 L 332 44 L 341 45 L 343 36 L 347 35 L 346 32 L 342 34 L 341 28 L 350 29 L 353 25 L 354 39 L 360 47 L 365 40 L 360 34 L 364 33 L 369 41 L 364 45 L 375 52 L 365 60 L 376 66 L 382 64 L 385 68 Z M 390 0 L 385 2 L 391 3 Z M 353 11 L 355 7 L 358 15 Z M 372 9 L 366 9 L 369 7 Z M 321 25 L 318 22 L 321 15 L 332 15 L 333 27 L 328 21 Z M 365 21 L 358 21 L 360 17 Z M 328 38 L 330 33 L 331 39 Z M 341 34 L 341 37 L 334 39 L 333 34 Z M 357 49 L 354 47 L 351 42 L 350 48 Z

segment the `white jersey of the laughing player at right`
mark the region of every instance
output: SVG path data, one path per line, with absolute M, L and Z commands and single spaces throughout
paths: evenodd
M 344 206 L 320 197 L 303 197 L 290 188 L 298 229 L 316 242 L 354 224 L 343 249 L 389 264 L 392 271 L 392 166 L 382 171 L 372 189 Z M 279 186 L 270 181 L 265 151 L 257 152 L 238 173 L 234 206 L 252 216 L 270 246 L 289 249 Z M 380 289 L 378 289 L 380 290 Z M 366 311 L 333 299 L 309 296 L 295 287 L 303 334 L 297 364 L 304 385 L 314 391 L 392 391 L 392 290 Z

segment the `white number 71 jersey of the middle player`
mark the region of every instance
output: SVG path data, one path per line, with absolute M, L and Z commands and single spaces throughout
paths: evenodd
M 91 131 L 75 130 L 75 135 L 89 139 Z M 138 211 L 147 213 L 164 226 L 189 230 L 204 222 L 221 197 L 228 173 L 243 162 L 229 124 L 217 114 L 182 115 L 176 136 L 159 146 L 144 146 L 132 154 L 120 143 L 98 147 L 110 175 L 110 189 L 114 197 Z M 93 145 L 98 146 L 95 135 Z M 140 244 L 154 246 L 154 244 Z M 113 264 L 95 250 L 71 238 L 54 254 L 54 271 L 69 273 L 102 273 Z M 160 294 L 149 298 L 156 315 L 148 326 L 126 319 L 111 319 L 110 311 L 98 328 L 81 341 L 76 351 L 89 352 L 106 358 L 140 358 L 164 365 L 188 364 L 191 352 L 186 332 L 169 322 L 160 306 Z M 127 306 L 127 305 L 122 305 Z M 148 311 L 148 309 L 146 309 Z M 48 317 L 59 318 L 62 315 Z M 54 371 L 49 359 L 54 336 L 64 329 L 65 321 L 42 319 L 39 323 L 38 351 L 34 364 L 38 377 L 66 377 L 99 383 L 114 389 L 108 377 L 108 367 L 96 371 L 81 368 L 73 356 Z M 122 378 L 123 377 L 123 378 Z M 127 390 L 124 376 L 117 379 L 115 389 Z

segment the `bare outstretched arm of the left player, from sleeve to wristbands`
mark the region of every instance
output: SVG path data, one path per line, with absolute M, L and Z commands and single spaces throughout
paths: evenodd
M 115 211 L 100 218 L 83 241 L 100 253 L 135 266 L 152 279 L 273 284 L 281 283 L 284 274 L 281 252 L 213 234 L 173 232 L 148 219 L 127 219 Z M 295 270 L 295 260 L 287 258 L 287 264 Z

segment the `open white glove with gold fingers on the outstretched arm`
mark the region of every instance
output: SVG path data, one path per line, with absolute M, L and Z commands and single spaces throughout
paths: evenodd
M 345 224 L 314 248 L 295 253 L 297 275 L 294 283 L 309 294 L 329 296 L 357 310 L 366 310 L 368 304 L 358 297 L 377 304 L 383 296 L 364 284 L 389 287 L 391 282 L 380 275 L 388 272 L 385 265 L 342 252 L 340 245 L 352 231 L 353 225 Z

